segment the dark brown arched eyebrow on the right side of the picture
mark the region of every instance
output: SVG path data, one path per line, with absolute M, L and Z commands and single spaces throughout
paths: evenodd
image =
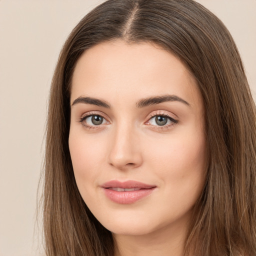
M 149 97 L 149 98 L 142 98 L 140 100 L 137 101 L 136 106 L 137 107 L 145 107 L 145 106 L 149 106 L 149 105 L 154 105 L 154 104 L 159 104 L 162 102 L 166 102 L 166 101 L 178 101 L 181 103 L 184 103 L 188 106 L 190 106 L 190 104 L 185 101 L 184 99 L 176 96 L 176 95 L 162 95 L 162 96 L 156 96 L 156 97 Z

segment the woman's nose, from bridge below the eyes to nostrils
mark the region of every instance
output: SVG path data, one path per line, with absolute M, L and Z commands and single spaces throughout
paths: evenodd
M 135 168 L 142 163 L 138 134 L 132 127 L 123 126 L 113 130 L 109 150 L 109 164 L 120 170 Z

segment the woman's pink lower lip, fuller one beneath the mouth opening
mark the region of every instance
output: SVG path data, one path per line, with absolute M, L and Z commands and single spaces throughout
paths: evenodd
M 120 204 L 130 204 L 133 203 L 150 193 L 154 190 L 155 187 L 139 189 L 134 191 L 115 191 L 109 188 L 103 188 L 105 195 L 112 201 Z

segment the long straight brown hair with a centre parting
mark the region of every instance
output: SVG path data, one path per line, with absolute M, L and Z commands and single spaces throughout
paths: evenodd
M 184 254 L 256 255 L 255 105 L 228 30 L 193 0 L 107 0 L 67 38 L 50 89 L 43 224 L 48 256 L 112 256 L 114 241 L 76 187 L 68 149 L 69 90 L 75 63 L 95 44 L 149 41 L 195 77 L 205 109 L 207 175 Z M 167 238 L 166 238 L 167 239 Z

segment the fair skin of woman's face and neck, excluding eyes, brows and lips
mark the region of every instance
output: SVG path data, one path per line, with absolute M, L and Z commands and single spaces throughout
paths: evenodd
M 166 94 L 187 103 L 136 105 L 142 98 Z M 78 97 L 107 101 L 110 108 L 73 103 Z M 104 42 L 78 59 L 70 105 L 69 149 L 77 187 L 113 233 L 115 255 L 181 256 L 205 177 L 202 98 L 186 67 L 149 42 Z M 102 124 L 84 117 L 91 114 L 104 117 Z M 155 115 L 177 123 L 167 119 L 158 125 Z M 138 201 L 119 204 L 102 191 L 101 184 L 109 180 L 136 180 L 156 188 Z

